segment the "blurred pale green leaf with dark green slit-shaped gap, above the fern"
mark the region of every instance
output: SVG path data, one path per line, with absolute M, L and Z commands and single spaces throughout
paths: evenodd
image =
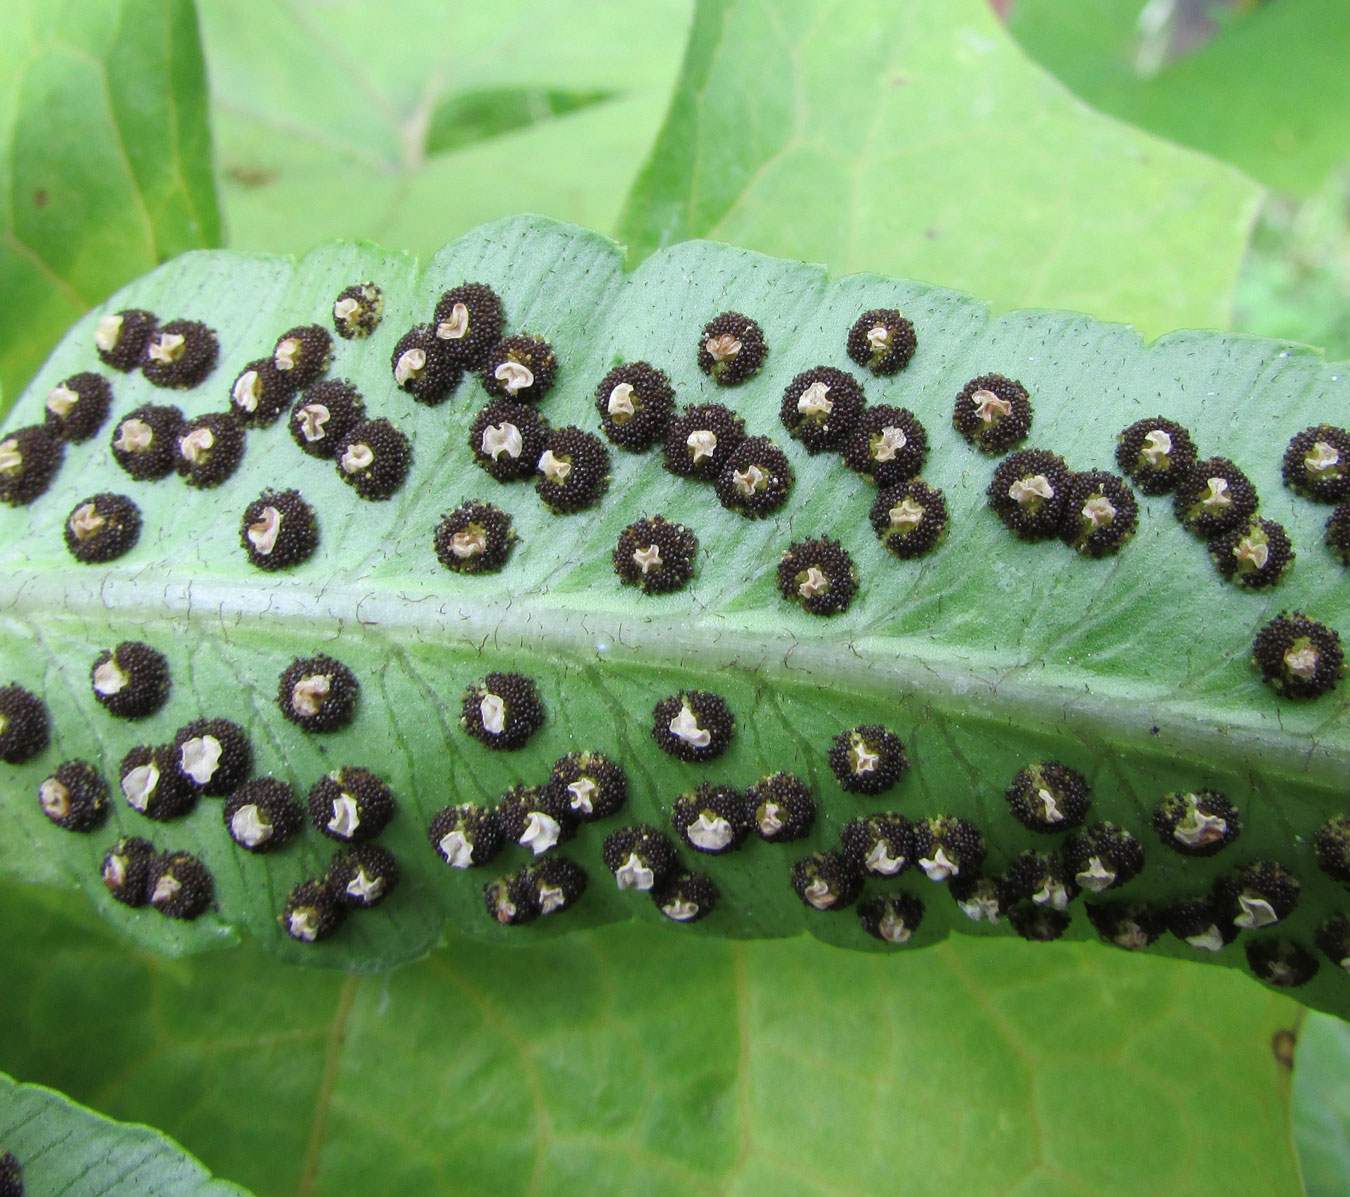
M 614 227 L 687 0 L 202 0 L 230 243 L 429 256 L 513 212 Z

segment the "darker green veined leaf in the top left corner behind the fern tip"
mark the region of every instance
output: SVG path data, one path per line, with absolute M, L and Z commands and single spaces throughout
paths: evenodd
M 4 28 L 0 383 L 12 399 L 73 320 L 174 254 L 217 244 L 220 216 L 190 0 L 8 0 Z

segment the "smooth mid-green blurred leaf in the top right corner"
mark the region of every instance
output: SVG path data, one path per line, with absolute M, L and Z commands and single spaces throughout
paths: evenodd
M 1341 0 L 1245 5 L 1214 38 L 1164 62 L 1141 34 L 1145 7 L 1017 0 L 1010 30 L 1089 104 L 1266 186 L 1310 194 L 1350 157 L 1350 23 Z

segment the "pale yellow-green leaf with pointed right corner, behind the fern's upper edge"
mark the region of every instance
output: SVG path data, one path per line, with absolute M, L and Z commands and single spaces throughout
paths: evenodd
M 702 0 L 620 238 L 1222 327 L 1257 189 L 1087 109 L 986 0 Z

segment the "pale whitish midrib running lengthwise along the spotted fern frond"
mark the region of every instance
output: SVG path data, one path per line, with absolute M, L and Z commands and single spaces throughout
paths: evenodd
M 59 613 L 59 614 L 58 614 Z M 938 714 L 1013 729 L 1057 729 L 1084 741 L 1149 754 L 1222 761 L 1265 777 L 1339 794 L 1350 775 L 1350 748 L 1282 731 L 1260 710 L 1224 710 L 1215 719 L 1200 702 L 1180 702 L 1135 677 L 1073 672 L 1011 653 L 965 650 L 917 637 L 855 640 L 771 637 L 716 613 L 690 619 L 625 617 L 580 610 L 537 595 L 474 599 L 409 595 L 369 584 L 329 582 L 309 588 L 240 586 L 231 579 L 104 576 L 15 571 L 0 580 L 0 615 L 35 625 L 76 621 L 188 621 L 221 628 L 247 618 L 285 625 L 297 636 L 443 642 L 502 653 L 559 656 L 583 667 L 649 663 L 691 673 L 690 684 L 722 669 L 780 677 L 853 694 L 917 695 Z M 360 629 L 359 633 L 352 629 Z M 130 634 L 130 633 L 128 633 Z M 1335 708 L 1328 708 L 1328 718 Z M 1245 718 L 1241 718 L 1243 717 Z

